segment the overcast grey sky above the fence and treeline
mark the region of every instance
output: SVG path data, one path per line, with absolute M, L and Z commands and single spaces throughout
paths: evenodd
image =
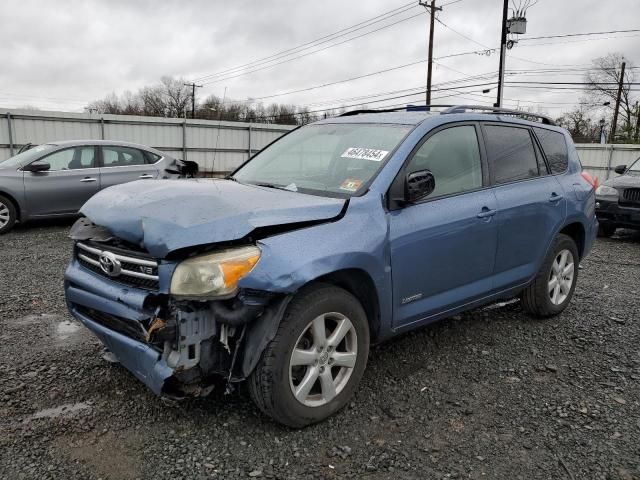
M 493 103 L 496 88 L 488 83 L 497 76 L 499 54 L 491 49 L 500 43 L 502 1 L 436 4 L 443 10 L 436 16 L 432 103 Z M 272 57 L 374 17 L 380 21 Z M 526 18 L 527 33 L 507 53 L 507 82 L 583 82 L 592 59 L 611 52 L 640 66 L 640 31 L 535 39 L 640 29 L 638 0 L 538 0 Z M 417 1 L 2 0 L 0 19 L 0 108 L 79 112 L 164 75 L 202 84 L 198 98 L 226 95 L 312 111 L 424 102 L 423 94 L 402 96 L 426 83 L 429 16 Z M 236 68 L 265 57 L 271 61 Z M 382 70 L 389 71 L 368 75 Z M 559 116 L 584 96 L 580 86 L 530 86 L 536 88 L 507 83 L 505 106 Z

